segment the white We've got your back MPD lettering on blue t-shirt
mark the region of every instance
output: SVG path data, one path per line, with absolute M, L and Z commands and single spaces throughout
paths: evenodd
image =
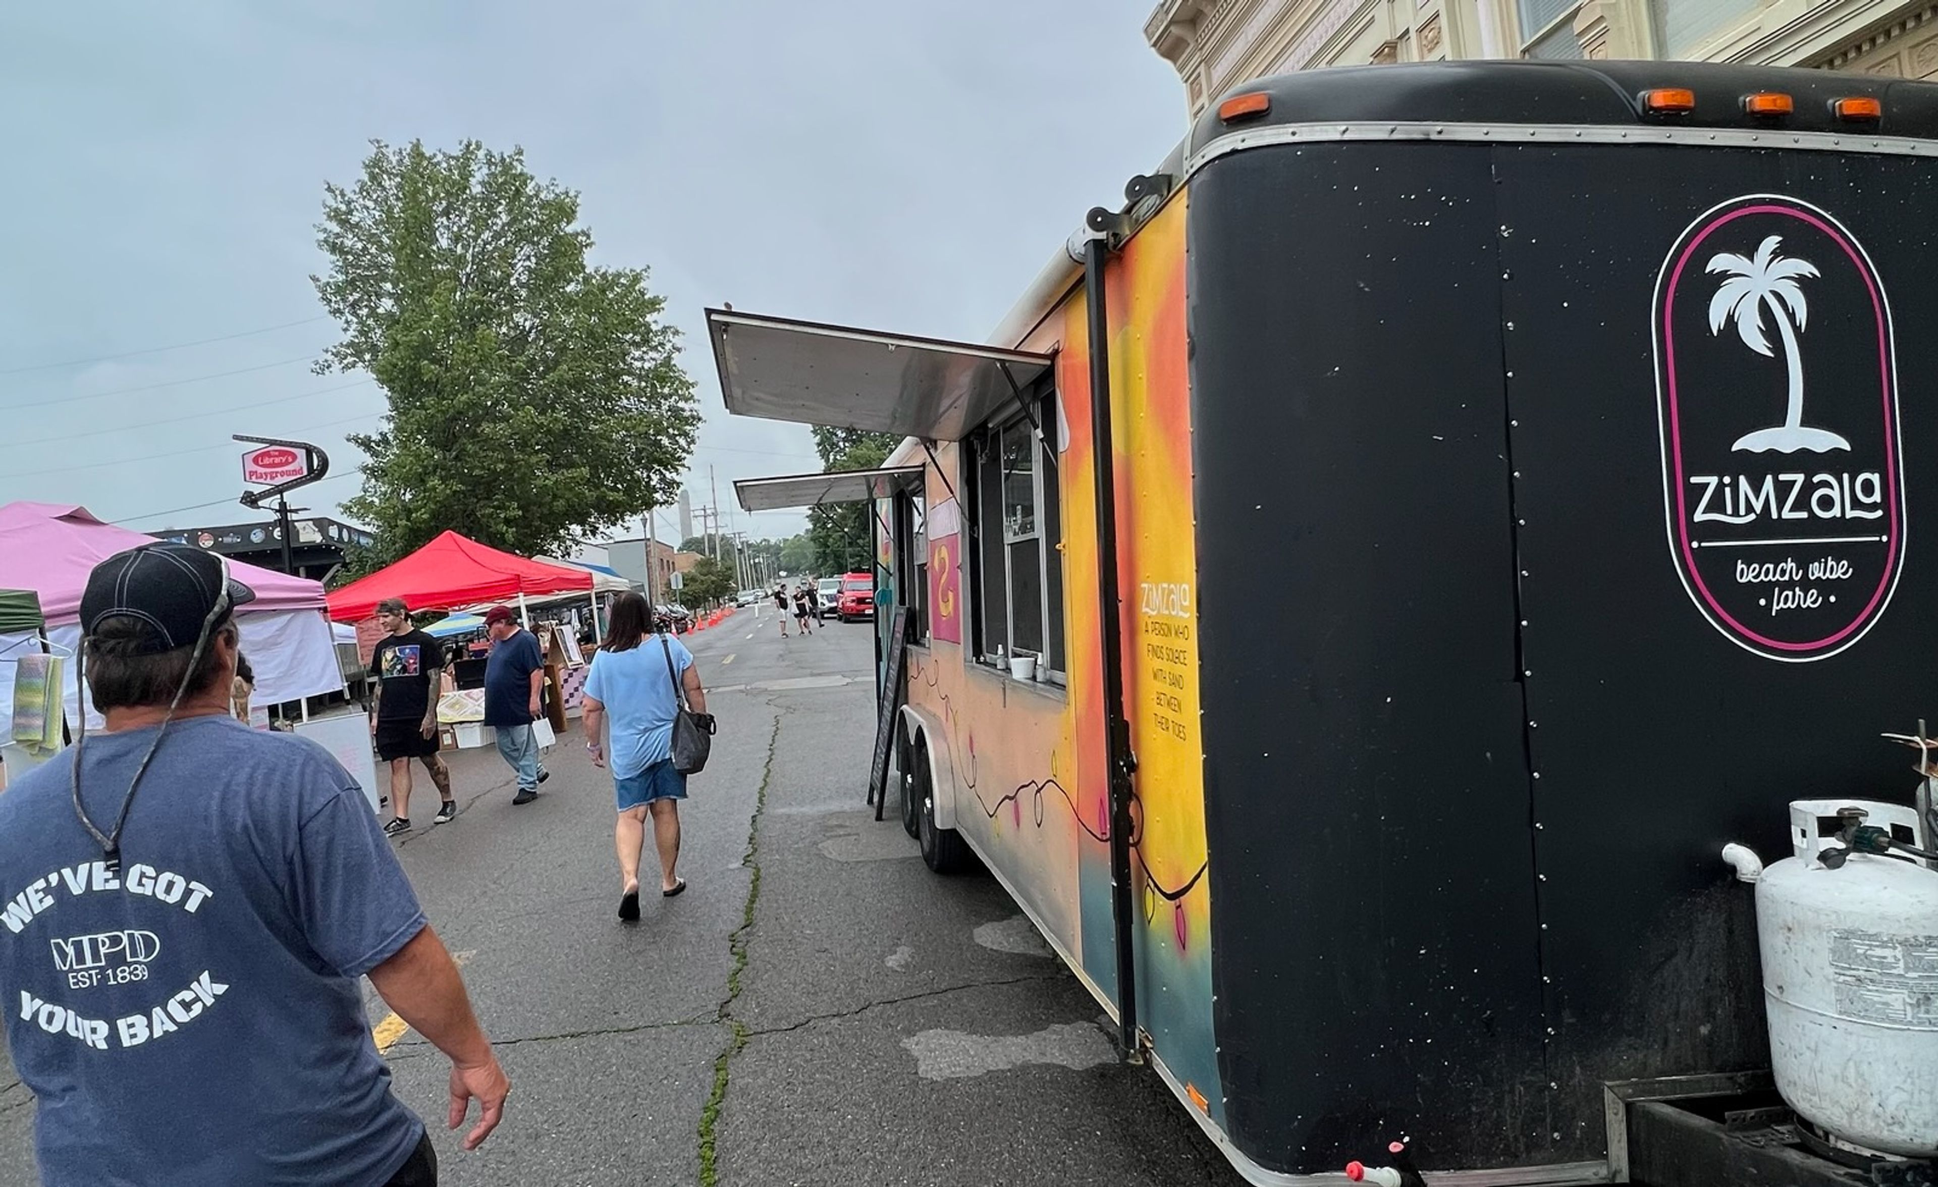
M 126 877 L 109 869 L 105 861 L 81 861 L 33 879 L 12 898 L 0 902 L 0 925 L 14 935 L 27 933 L 41 915 L 50 912 L 62 898 L 81 898 L 85 894 L 132 894 L 153 898 L 188 915 L 194 915 L 213 890 L 186 875 L 134 863 Z M 163 950 L 163 937 L 147 929 L 114 929 L 87 935 L 50 935 L 48 956 L 56 983 L 70 993 L 89 989 L 138 985 L 149 981 L 149 966 Z M 180 1030 L 203 1016 L 225 993 L 229 985 L 217 981 L 209 970 L 202 970 L 186 985 L 161 987 L 153 1005 L 136 1012 L 112 1018 L 99 1016 L 87 1009 L 85 997 L 74 1003 L 19 991 L 19 1020 L 39 1026 L 50 1036 L 66 1036 L 83 1047 L 107 1051 L 114 1047 L 140 1047 L 151 1040 Z

